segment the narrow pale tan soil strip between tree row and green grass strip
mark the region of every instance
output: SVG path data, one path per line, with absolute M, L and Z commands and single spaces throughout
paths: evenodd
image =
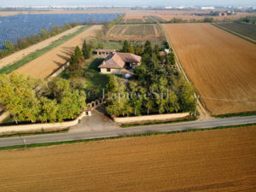
M 43 49 L 44 47 L 47 47 L 49 44 L 52 44 L 54 41 L 66 36 L 68 34 L 78 31 L 79 28 L 81 28 L 81 26 L 73 27 L 72 29 L 69 29 L 66 32 L 62 32 L 62 33 L 56 35 L 55 37 L 45 39 L 44 41 L 42 41 L 38 44 L 34 44 L 26 49 L 22 49 L 18 52 L 15 52 L 12 55 L 4 57 L 3 59 L 0 60 L 0 68 L 10 65 L 10 64 L 13 64 L 15 61 L 21 60 L 26 55 L 29 55 L 38 49 Z

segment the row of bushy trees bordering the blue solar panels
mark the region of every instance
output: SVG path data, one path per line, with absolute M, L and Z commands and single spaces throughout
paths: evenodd
M 0 59 L 4 56 L 10 55 L 15 51 L 20 49 L 25 49 L 32 44 L 37 44 L 40 41 L 43 41 L 46 38 L 53 37 L 61 32 L 65 32 L 68 29 L 78 26 L 79 23 L 65 24 L 64 26 L 58 27 L 53 26 L 50 30 L 42 29 L 40 34 L 33 34 L 30 37 L 22 37 L 17 40 L 16 44 L 11 44 L 9 41 L 4 43 L 6 49 L 0 50 Z

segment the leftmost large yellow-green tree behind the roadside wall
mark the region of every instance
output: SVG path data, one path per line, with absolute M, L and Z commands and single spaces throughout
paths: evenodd
M 37 85 L 37 80 L 18 73 L 0 76 L 0 103 L 9 110 L 16 123 L 37 120 L 39 102 L 33 90 Z

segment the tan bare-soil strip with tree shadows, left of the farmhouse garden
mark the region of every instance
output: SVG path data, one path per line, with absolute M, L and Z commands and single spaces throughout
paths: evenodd
M 102 26 L 90 26 L 84 32 L 74 38 L 69 39 L 64 44 L 61 44 L 44 55 L 39 56 L 33 61 L 17 69 L 20 73 L 32 75 L 36 78 L 47 78 L 51 73 L 54 73 L 58 68 L 63 66 L 73 54 L 74 48 L 83 44 L 83 40 L 96 37 L 96 32 L 101 30 Z

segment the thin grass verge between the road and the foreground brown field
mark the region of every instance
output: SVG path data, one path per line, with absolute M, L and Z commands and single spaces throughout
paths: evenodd
M 156 135 L 177 134 L 177 133 L 183 133 L 183 132 L 211 131 L 211 130 L 219 130 L 219 129 L 238 128 L 243 126 L 253 126 L 253 125 L 256 125 L 256 123 L 244 124 L 244 125 L 218 126 L 218 127 L 212 127 L 212 128 L 206 128 L 206 129 L 191 129 L 191 130 L 183 130 L 183 131 L 149 132 L 149 133 L 143 133 L 143 134 L 137 134 L 137 135 L 124 135 L 119 137 L 84 139 L 84 140 L 67 141 L 67 142 L 15 145 L 15 146 L 9 146 L 9 147 L 1 147 L 0 150 L 15 149 L 15 148 L 37 148 L 37 147 L 46 147 L 46 146 L 52 146 L 52 145 L 73 144 L 73 143 L 88 143 L 88 142 L 96 142 L 96 141 L 102 141 L 102 140 L 119 139 L 119 138 L 125 138 L 125 137 L 146 137 L 146 136 L 156 136 Z

